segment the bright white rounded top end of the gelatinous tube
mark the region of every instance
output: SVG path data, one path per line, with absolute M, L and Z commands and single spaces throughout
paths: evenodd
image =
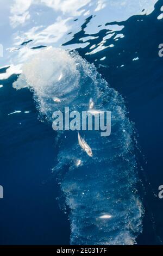
M 34 90 L 41 113 L 49 114 L 52 118 L 49 106 L 54 108 L 54 104 L 49 105 L 49 102 L 60 103 L 62 99 L 68 99 L 70 93 L 73 97 L 79 87 L 78 78 L 76 63 L 68 51 L 47 47 L 23 64 L 22 75 L 13 83 L 13 87 Z

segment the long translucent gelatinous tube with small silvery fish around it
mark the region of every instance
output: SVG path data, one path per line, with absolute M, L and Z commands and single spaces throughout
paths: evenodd
M 69 53 L 52 47 L 45 48 L 25 63 L 22 71 L 18 80 L 13 84 L 14 88 L 20 89 L 28 86 L 32 89 L 40 114 L 46 115 L 46 120 L 49 122 L 53 120 L 54 109 L 58 109 L 58 106 L 60 109 L 63 108 L 67 102 L 67 106 L 74 108 L 75 105 L 77 109 L 80 109 L 83 108 L 83 104 L 88 107 L 90 98 L 95 101 L 95 106 L 99 99 L 97 106 L 101 109 L 101 101 L 103 102 L 103 99 L 108 97 L 107 109 L 112 111 L 112 117 L 114 117 L 112 121 L 117 124 L 114 130 L 115 138 L 102 141 L 98 133 L 87 134 L 87 142 L 95 150 L 95 157 L 88 161 L 86 154 L 83 154 L 78 145 L 77 136 L 67 133 L 66 138 L 62 133 L 59 137 L 63 146 L 59 149 L 58 164 L 54 169 L 56 173 L 60 172 L 62 175 L 65 163 L 73 164 L 73 168 L 69 169 L 70 172 L 67 167 L 68 175 L 64 173 L 64 179 L 59 182 L 65 194 L 66 204 L 71 209 L 72 244 L 83 244 L 85 241 L 87 244 L 99 244 L 102 240 L 103 245 L 133 244 L 137 234 L 142 230 L 143 211 L 139 197 L 128 185 L 135 185 L 136 160 L 134 154 L 132 156 L 128 154 L 130 150 L 133 152 L 131 141 L 133 126 L 126 118 L 121 96 L 114 89 L 109 88 L 106 81 L 98 77 L 93 64 L 87 63 L 76 52 Z M 59 80 L 60 74 L 62 77 Z M 101 93 L 103 90 L 104 94 Z M 53 101 L 53 97 L 61 99 L 59 105 Z M 97 114 L 99 111 L 101 110 L 89 110 L 91 114 Z M 123 132 L 124 130 L 126 132 Z M 120 144 L 121 147 L 117 147 Z M 121 166 L 119 168 L 120 164 L 115 160 L 115 155 L 123 155 L 122 168 Z M 105 157 L 107 157 L 109 166 L 102 165 L 103 162 L 105 163 Z M 120 200 L 117 200 L 117 193 L 112 190 L 112 185 L 116 185 L 119 181 L 121 185 L 121 176 L 124 178 L 124 184 L 118 187 L 117 192 L 123 188 L 127 197 L 118 193 Z M 92 182 L 92 179 L 95 180 Z M 87 186 L 88 182 L 89 186 Z M 90 202 L 92 202 L 92 207 Z M 117 208 L 117 203 L 122 207 Z M 82 209 L 81 205 L 85 208 Z M 128 212 L 131 212 L 131 215 Z M 109 223 L 112 224 L 111 227 L 106 225 Z M 94 240 L 92 236 L 87 236 L 87 231 L 83 231 L 90 225 L 97 227 Z M 112 228 L 117 230 L 116 235 L 112 233 Z M 104 230 L 104 235 L 99 236 L 98 230 L 101 229 Z M 109 236 L 106 237 L 105 234 Z

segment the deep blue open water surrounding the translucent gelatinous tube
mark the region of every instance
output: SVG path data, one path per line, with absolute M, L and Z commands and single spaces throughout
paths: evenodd
M 137 243 L 147 245 L 160 244 L 163 239 L 163 201 L 156 196 L 158 187 L 163 184 L 163 58 L 158 56 L 158 46 L 163 42 L 163 20 L 156 19 L 162 5 L 160 0 L 152 14 L 133 16 L 117 23 L 124 26 L 121 33 L 125 37 L 120 41 L 111 42 L 110 39 L 109 44 L 114 43 L 114 48 L 90 56 L 85 55 L 90 45 L 78 49 L 80 56 L 94 63 L 111 87 L 122 94 L 128 117 L 134 121 L 139 134 L 141 153 L 137 153 L 137 158 L 143 167 L 143 170 L 139 168 L 139 177 L 144 186 L 143 191 L 140 188 L 140 194 L 145 217 Z M 90 21 L 91 17 L 83 27 Z M 91 44 L 100 42 L 105 33 L 105 30 L 100 31 L 99 38 L 93 43 L 90 41 Z M 78 44 L 84 36 L 81 28 L 67 45 Z M 102 63 L 105 66 L 100 66 L 101 62 L 95 62 L 95 59 L 103 56 L 107 56 Z M 139 60 L 132 62 L 137 56 Z M 124 66 L 120 68 L 122 64 Z M 0 81 L 3 84 L 0 89 L 0 181 L 4 187 L 4 199 L 0 202 L 0 243 L 68 244 L 70 224 L 67 214 L 59 209 L 58 200 L 55 200 L 60 190 L 51 175 L 58 150 L 54 143 L 55 133 L 51 125 L 38 119 L 33 93 L 28 89 L 12 88 L 16 78 L 12 75 L 8 80 Z M 8 115 L 13 109 L 21 109 L 22 113 Z

